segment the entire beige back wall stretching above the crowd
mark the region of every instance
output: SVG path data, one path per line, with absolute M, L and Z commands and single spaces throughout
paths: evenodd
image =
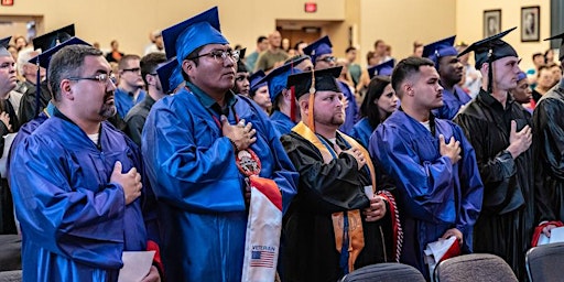
M 409 56 L 415 40 L 430 43 L 453 34 L 457 34 L 457 41 L 480 40 L 482 12 L 490 9 L 502 10 L 502 29 L 508 29 L 520 25 L 521 7 L 539 4 L 541 39 L 550 35 L 550 0 L 323 0 L 315 1 L 316 13 L 305 13 L 304 2 L 306 0 L 15 1 L 13 7 L 0 7 L 0 15 L 43 15 L 40 34 L 75 22 L 78 36 L 97 41 L 102 48 L 108 48 L 109 42 L 118 39 L 122 51 L 141 54 L 148 44 L 149 32 L 218 6 L 227 39 L 251 50 L 258 35 L 275 29 L 276 19 L 319 20 L 324 22 L 322 33 L 332 37 L 335 55 L 344 56 L 348 28 L 352 26 L 354 44 L 360 47 L 358 62 L 362 65 L 377 39 L 392 45 L 395 58 Z M 531 66 L 532 53 L 549 47 L 543 41 L 521 43 L 519 30 L 508 35 L 507 41 L 524 58 L 523 68 Z

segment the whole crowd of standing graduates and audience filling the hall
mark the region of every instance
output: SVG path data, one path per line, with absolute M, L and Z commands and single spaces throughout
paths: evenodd
M 217 8 L 143 56 L 73 25 L 1 40 L 0 234 L 21 228 L 24 281 L 117 281 L 127 251 L 155 252 L 143 281 L 381 262 L 430 280 L 425 248 L 448 238 L 525 281 L 533 238 L 564 219 L 564 44 L 524 73 L 512 30 L 401 59 L 378 40 L 367 68 L 328 36 L 231 47 Z

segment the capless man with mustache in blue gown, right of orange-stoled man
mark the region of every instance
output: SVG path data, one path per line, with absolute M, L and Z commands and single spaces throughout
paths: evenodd
M 484 186 L 463 130 L 431 113 L 443 106 L 433 62 L 401 61 L 392 86 L 402 106 L 376 129 L 369 149 L 398 188 L 405 235 L 400 261 L 429 278 L 423 261 L 427 243 L 455 236 L 463 252 L 471 252 Z

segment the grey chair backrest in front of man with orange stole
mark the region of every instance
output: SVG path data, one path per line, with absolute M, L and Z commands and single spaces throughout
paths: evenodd
M 423 274 L 415 268 L 402 263 L 378 263 L 357 269 L 345 275 L 341 282 L 425 282 Z

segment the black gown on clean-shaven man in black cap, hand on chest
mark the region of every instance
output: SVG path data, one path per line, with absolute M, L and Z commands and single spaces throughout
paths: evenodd
M 455 118 L 476 151 L 484 182 L 484 205 L 474 227 L 474 251 L 503 258 L 523 281 L 525 252 L 534 223 L 532 147 L 516 160 L 509 147 L 511 120 L 518 131 L 531 115 L 508 94 L 506 108 L 484 89 Z

